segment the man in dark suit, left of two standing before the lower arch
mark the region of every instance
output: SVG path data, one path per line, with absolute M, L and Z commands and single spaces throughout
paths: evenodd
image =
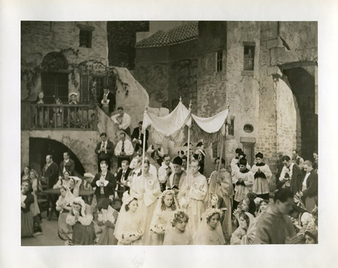
M 58 165 L 53 162 L 53 156 L 48 154 L 46 156 L 46 164 L 41 171 L 42 182 L 47 184 L 47 189 L 52 189 L 56 181 L 58 181 Z M 48 195 L 49 202 L 51 205 L 51 211 L 49 212 L 48 220 L 51 220 L 53 213 L 56 212 L 56 201 L 58 200 L 57 195 Z M 58 212 L 56 212 L 58 216 Z

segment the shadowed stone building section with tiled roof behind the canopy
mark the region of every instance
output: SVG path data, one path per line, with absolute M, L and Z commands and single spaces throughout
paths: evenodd
M 149 37 L 143 33 L 146 38 L 135 45 L 133 74 L 146 88 L 151 107 L 174 109 L 180 97 L 185 104 L 197 97 L 198 23 L 168 25 Z M 165 24 L 150 22 L 150 30 L 156 29 L 165 29 Z

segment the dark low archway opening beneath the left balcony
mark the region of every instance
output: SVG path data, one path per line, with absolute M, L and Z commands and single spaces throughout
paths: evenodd
M 51 154 L 53 161 L 60 165 L 63 161 L 63 152 L 69 152 L 70 159 L 75 162 L 75 176 L 84 174 L 84 167 L 77 156 L 63 143 L 44 138 L 30 138 L 30 166 L 40 173 L 46 164 L 46 155 Z

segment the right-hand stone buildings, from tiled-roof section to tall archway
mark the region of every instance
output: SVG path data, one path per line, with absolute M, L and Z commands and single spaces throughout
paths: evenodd
M 192 40 L 167 41 L 188 27 Z M 318 149 L 317 23 L 200 21 L 155 32 L 136 47 L 134 75 L 151 105 L 182 96 L 204 117 L 230 105 L 227 166 L 240 147 L 251 165 L 263 152 L 276 174 L 280 155 L 297 149 L 312 159 Z M 207 175 L 219 150 L 208 148 Z

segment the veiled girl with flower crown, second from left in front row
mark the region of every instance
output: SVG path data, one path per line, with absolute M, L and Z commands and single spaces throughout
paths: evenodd
M 151 219 L 151 245 L 163 245 L 165 226 L 179 208 L 174 190 L 165 190 L 158 199 Z

